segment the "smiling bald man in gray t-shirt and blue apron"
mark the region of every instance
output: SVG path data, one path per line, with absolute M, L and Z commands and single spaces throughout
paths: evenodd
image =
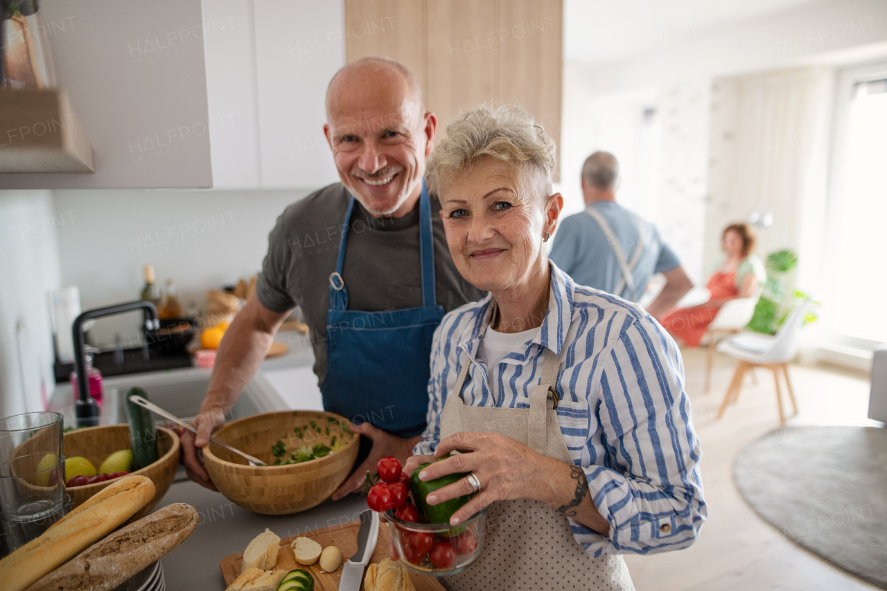
M 425 189 L 437 119 L 415 76 L 391 59 L 352 62 L 329 83 L 326 119 L 340 182 L 278 218 L 255 296 L 219 346 L 195 419 L 200 432 L 182 439 L 188 475 L 208 488 L 195 445 L 224 424 L 296 305 L 310 328 L 324 407 L 363 436 L 335 500 L 359 491 L 381 458 L 412 455 L 428 413 L 435 328 L 445 312 L 484 296 L 456 270 L 440 204 Z

